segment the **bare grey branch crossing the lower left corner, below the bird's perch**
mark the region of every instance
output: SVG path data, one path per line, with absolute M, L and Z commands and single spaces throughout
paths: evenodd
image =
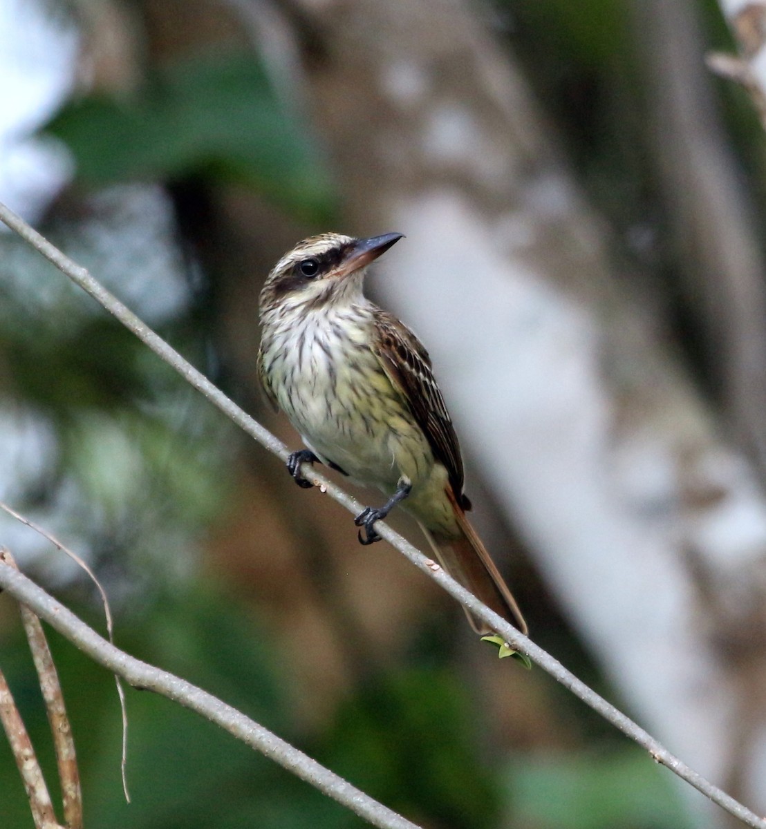
M 220 725 L 243 743 L 265 754 L 329 797 L 334 797 L 373 826 L 381 829 L 419 829 L 416 824 L 373 800 L 231 705 L 179 676 L 173 676 L 168 671 L 148 665 L 120 651 L 77 618 L 71 610 L 46 594 L 31 579 L 27 579 L 25 575 L 4 562 L 0 562 L 0 586 L 18 602 L 26 604 L 41 619 L 45 619 L 52 628 L 56 628 L 94 662 L 119 674 L 130 685 L 167 696 L 169 700 L 178 702 Z

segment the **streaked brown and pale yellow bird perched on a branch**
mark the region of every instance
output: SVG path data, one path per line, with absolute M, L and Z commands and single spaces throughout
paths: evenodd
M 432 361 L 415 334 L 363 293 L 368 266 L 403 238 L 324 233 L 276 263 L 259 303 L 258 374 L 275 410 L 305 445 L 287 468 L 312 484 L 303 463 L 324 463 L 388 500 L 354 519 L 363 545 L 397 504 L 415 517 L 437 560 L 489 608 L 528 632 L 466 511 L 460 445 Z M 466 610 L 481 636 L 496 633 Z

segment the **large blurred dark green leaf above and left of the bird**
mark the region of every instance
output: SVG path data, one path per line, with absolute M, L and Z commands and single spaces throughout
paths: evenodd
M 310 129 L 251 52 L 210 51 L 164 66 L 134 95 L 72 99 L 46 125 L 90 187 L 185 177 L 243 182 L 321 221 L 332 211 Z

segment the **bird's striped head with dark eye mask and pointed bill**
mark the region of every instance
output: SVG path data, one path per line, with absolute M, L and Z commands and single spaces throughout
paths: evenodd
M 323 233 L 299 242 L 271 269 L 261 291 L 261 315 L 354 301 L 362 294 L 368 264 L 402 237 L 401 233 L 385 233 L 352 239 Z

